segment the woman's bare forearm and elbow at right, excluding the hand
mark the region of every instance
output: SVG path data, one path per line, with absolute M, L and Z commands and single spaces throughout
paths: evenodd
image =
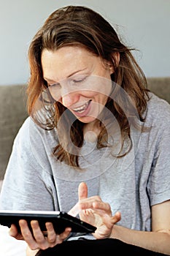
M 170 255 L 170 200 L 152 206 L 152 232 L 114 225 L 110 237 Z

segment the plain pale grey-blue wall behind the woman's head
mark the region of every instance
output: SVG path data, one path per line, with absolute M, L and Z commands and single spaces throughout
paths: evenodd
M 170 76 L 169 0 L 0 0 L 0 85 L 26 83 L 27 51 L 51 12 L 66 5 L 100 12 L 123 42 L 134 47 L 147 77 Z

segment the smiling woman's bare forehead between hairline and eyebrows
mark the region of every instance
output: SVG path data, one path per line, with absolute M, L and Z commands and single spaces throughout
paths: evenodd
M 42 70 L 45 78 L 61 80 L 79 72 L 88 72 L 100 62 L 84 48 L 67 46 L 55 51 L 42 51 Z M 61 79 L 59 79 L 61 78 Z

